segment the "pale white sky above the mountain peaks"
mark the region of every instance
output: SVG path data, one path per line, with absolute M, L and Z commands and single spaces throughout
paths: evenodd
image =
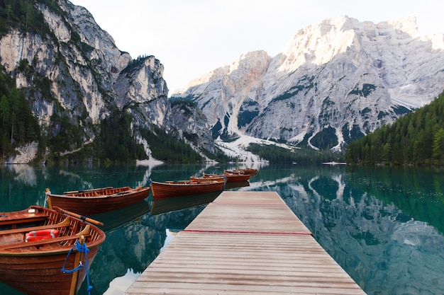
M 415 16 L 421 34 L 444 33 L 443 0 L 71 0 L 119 50 L 154 55 L 170 95 L 240 54 L 284 50 L 296 32 L 327 18 L 392 21 Z

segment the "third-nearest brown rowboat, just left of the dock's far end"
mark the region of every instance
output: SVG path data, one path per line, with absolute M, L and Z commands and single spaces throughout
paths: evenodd
M 220 192 L 225 187 L 223 179 L 165 181 L 165 183 L 151 181 L 150 183 L 154 199 Z

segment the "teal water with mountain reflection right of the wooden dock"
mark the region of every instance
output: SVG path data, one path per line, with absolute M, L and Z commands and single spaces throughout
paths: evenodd
M 443 212 L 444 206 L 435 202 L 435 190 L 427 195 L 430 187 L 412 182 L 415 175 L 403 170 L 403 182 L 390 178 L 390 185 L 375 185 L 384 174 L 368 178 L 365 171 L 304 173 L 279 194 L 367 294 L 443 294 L 444 238 L 437 230 L 443 225 L 441 216 L 435 228 L 429 225 L 435 216 L 419 221 L 416 218 L 429 214 L 405 212 L 422 212 L 429 206 Z M 371 189 L 362 190 L 368 181 Z M 413 197 L 413 189 L 421 196 Z M 392 199 L 387 200 L 387 190 L 396 192 Z M 404 202 L 407 205 L 401 206 Z

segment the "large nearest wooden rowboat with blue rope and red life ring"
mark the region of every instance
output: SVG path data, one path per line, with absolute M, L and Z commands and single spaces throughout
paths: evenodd
M 29 295 L 76 294 L 105 241 L 104 231 L 87 222 L 94 220 L 76 216 L 38 206 L 1 213 L 0 282 Z

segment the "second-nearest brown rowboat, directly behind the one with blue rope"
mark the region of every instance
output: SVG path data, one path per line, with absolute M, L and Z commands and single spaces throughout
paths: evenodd
M 91 215 L 123 208 L 143 201 L 150 195 L 150 187 L 102 187 L 92 190 L 46 192 L 48 207 L 60 207 L 77 214 Z

